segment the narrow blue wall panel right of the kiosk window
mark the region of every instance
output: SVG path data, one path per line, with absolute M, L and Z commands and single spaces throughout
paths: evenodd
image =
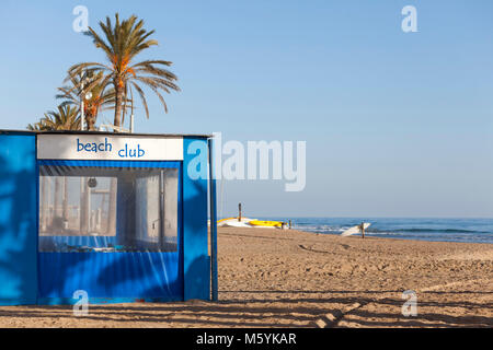
M 183 140 L 184 299 L 209 300 L 207 247 L 207 140 Z

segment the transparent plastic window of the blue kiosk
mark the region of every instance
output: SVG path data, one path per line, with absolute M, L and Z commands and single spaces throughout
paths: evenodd
M 177 168 L 39 166 L 41 252 L 175 252 Z

